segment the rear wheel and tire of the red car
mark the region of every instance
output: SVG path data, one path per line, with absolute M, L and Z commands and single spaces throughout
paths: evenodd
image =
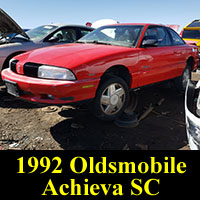
M 184 92 L 187 86 L 187 82 L 191 79 L 191 66 L 189 64 L 186 65 L 182 75 L 175 79 L 175 87 L 180 92 Z

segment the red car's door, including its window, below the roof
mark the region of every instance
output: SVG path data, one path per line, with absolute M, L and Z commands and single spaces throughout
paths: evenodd
M 174 49 L 166 27 L 149 26 L 145 31 L 145 36 L 157 38 L 158 43 L 151 47 L 140 45 L 139 86 L 170 79 L 176 71 Z

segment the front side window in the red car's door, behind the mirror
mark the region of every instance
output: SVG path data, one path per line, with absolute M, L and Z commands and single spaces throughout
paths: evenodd
M 170 46 L 172 45 L 169 34 L 167 32 L 167 30 L 165 29 L 165 27 L 156 27 L 156 26 L 152 26 L 149 27 L 144 36 L 150 36 L 153 38 L 157 38 L 158 40 L 158 46 Z

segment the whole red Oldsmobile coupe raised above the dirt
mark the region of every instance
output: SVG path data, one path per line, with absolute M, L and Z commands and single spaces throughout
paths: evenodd
M 198 61 L 198 48 L 169 27 L 115 24 L 73 44 L 16 56 L 2 78 L 17 97 L 49 104 L 92 100 L 97 117 L 113 120 L 126 108 L 130 90 L 173 78 L 185 88 Z

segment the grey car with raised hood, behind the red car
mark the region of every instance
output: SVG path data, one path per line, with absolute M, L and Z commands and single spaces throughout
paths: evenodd
M 94 30 L 82 25 L 43 25 L 24 31 L 0 9 L 0 71 L 14 56 L 36 48 L 71 43 Z M 13 35 L 13 37 L 9 37 Z

